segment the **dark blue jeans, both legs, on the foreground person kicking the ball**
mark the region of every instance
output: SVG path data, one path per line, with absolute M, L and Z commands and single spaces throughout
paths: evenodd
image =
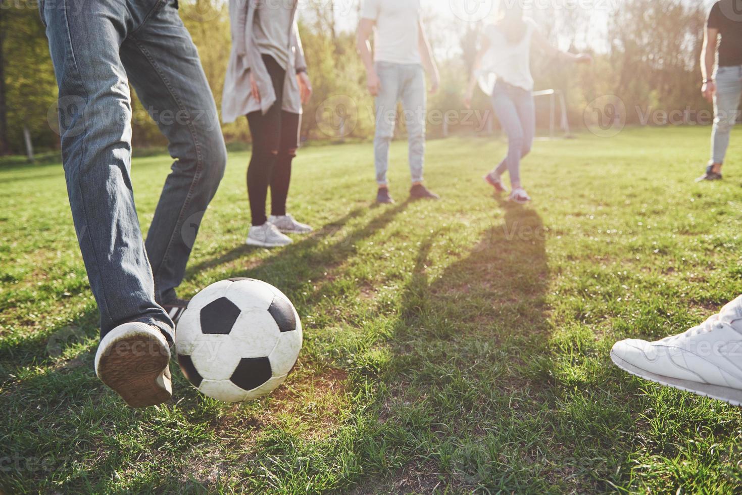
M 42 0 L 59 85 L 72 217 L 100 310 L 101 336 L 141 321 L 172 339 L 175 298 L 226 149 L 214 97 L 176 0 Z M 175 161 L 146 243 L 131 188 L 129 82 Z

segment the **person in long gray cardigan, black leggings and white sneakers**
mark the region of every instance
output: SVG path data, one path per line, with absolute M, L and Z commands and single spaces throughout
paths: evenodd
M 299 145 L 301 105 L 312 95 L 296 24 L 297 1 L 230 0 L 232 53 L 222 99 L 222 119 L 247 117 L 252 157 L 247 190 L 252 226 L 250 246 L 292 242 L 286 234 L 312 228 L 286 213 L 292 160 Z M 266 216 L 268 188 L 271 216 Z

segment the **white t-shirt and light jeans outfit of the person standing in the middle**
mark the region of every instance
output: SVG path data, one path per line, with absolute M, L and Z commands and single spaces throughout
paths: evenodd
M 402 102 L 409 134 L 410 175 L 423 180 L 425 155 L 425 71 L 418 49 L 420 0 L 366 0 L 361 17 L 376 23 L 374 61 L 381 90 L 375 99 L 374 155 L 376 183 L 387 186 L 389 147 L 397 104 Z

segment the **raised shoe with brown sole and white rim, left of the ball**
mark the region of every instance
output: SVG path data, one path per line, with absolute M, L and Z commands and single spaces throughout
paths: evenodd
M 119 325 L 100 341 L 95 373 L 131 407 L 162 404 L 172 396 L 170 346 L 143 323 Z

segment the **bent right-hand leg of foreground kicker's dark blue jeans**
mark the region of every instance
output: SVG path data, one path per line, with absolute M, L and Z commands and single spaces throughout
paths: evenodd
M 145 243 L 155 298 L 167 303 L 176 297 L 201 220 L 223 177 L 226 148 L 214 96 L 174 0 L 128 36 L 121 59 L 175 159 Z

